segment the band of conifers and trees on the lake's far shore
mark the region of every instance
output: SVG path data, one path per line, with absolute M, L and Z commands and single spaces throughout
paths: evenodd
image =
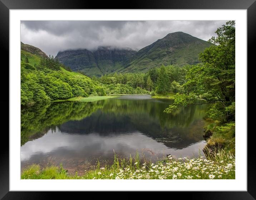
M 184 67 L 168 65 L 160 69 L 153 68 L 148 73 L 114 73 L 101 77 L 94 76 L 93 80 L 102 83 L 107 94 L 146 94 L 155 89 L 158 93 L 164 93 L 163 90 L 183 93 L 185 91 L 181 84 L 186 82 L 185 76 L 190 68 L 189 65 Z M 175 81 L 173 88 L 170 87 L 171 80 Z M 139 90 L 138 87 L 141 89 Z

